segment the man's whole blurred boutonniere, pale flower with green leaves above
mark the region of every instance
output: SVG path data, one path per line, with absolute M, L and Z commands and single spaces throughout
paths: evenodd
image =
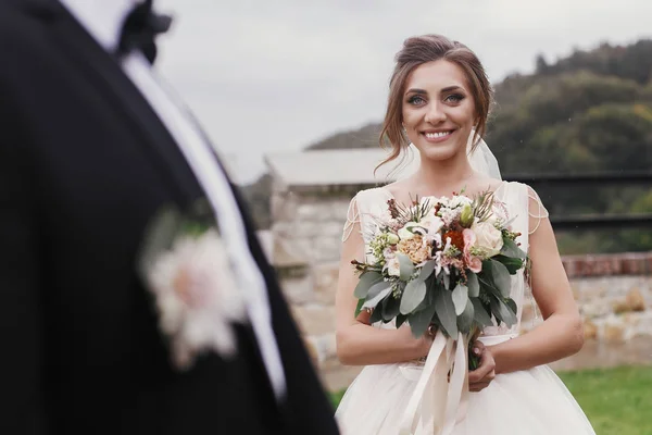
M 138 269 L 176 368 L 188 369 L 209 351 L 235 355 L 234 323 L 244 322 L 244 300 L 206 200 L 187 211 L 171 206 L 156 213 Z

